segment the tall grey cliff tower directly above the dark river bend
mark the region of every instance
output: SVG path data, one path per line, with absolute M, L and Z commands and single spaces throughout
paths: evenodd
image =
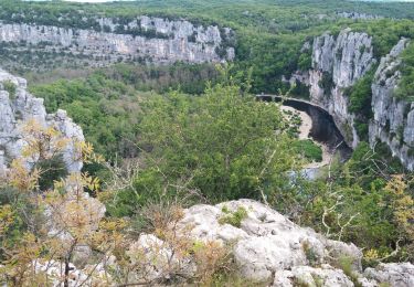
M 375 64 L 372 38 L 347 29 L 336 38 L 325 33 L 314 40 L 312 68 L 309 71 L 310 99 L 332 115 L 347 144 L 359 138 L 343 89 L 352 86 Z

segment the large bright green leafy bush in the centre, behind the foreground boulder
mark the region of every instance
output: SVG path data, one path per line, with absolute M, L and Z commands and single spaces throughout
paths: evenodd
M 177 187 L 212 202 L 259 199 L 261 190 L 273 198 L 295 169 L 280 110 L 241 95 L 238 86 L 210 87 L 202 97 L 153 96 L 142 113 L 138 145 L 145 168 L 119 194 L 127 213 L 151 199 L 177 196 Z

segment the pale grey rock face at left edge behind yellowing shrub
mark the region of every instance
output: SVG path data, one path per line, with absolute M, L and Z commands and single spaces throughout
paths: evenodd
M 77 142 L 84 141 L 82 129 L 67 117 L 64 110 L 47 115 L 43 99 L 33 97 L 26 91 L 26 81 L 0 70 L 0 174 L 12 159 L 22 158 L 28 146 L 28 123 L 40 128 L 53 128 L 64 138 L 65 145 L 60 150 L 67 171 L 79 172 Z M 52 147 L 53 149 L 53 147 Z M 25 159 L 28 167 L 31 160 Z

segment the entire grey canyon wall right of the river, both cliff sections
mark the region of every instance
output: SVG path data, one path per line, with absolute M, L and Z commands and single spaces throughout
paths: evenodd
M 312 49 L 312 67 L 297 73 L 290 82 L 299 81 L 309 86 L 310 102 L 332 115 L 347 144 L 355 148 L 360 142 L 355 129 L 358 115 L 350 111 L 347 88 L 375 68 L 371 86 L 372 118 L 368 123 L 370 145 L 374 148 L 379 141 L 385 144 L 394 157 L 413 170 L 414 105 L 395 96 L 401 79 L 401 53 L 408 43 L 407 39 L 402 39 L 376 67 L 372 36 L 350 29 L 337 36 L 325 33 L 314 39 L 312 46 L 304 45 L 304 49 Z

